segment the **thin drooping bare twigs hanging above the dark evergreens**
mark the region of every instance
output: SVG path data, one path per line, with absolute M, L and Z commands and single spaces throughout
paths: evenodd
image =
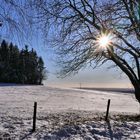
M 8 38 L 29 38 L 32 29 L 31 0 L 0 0 L 0 35 Z

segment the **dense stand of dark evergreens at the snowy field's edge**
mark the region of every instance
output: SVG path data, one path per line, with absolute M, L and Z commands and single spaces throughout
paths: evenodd
M 44 62 L 32 48 L 19 50 L 13 43 L 3 40 L 0 44 L 0 82 L 42 84 L 46 77 Z

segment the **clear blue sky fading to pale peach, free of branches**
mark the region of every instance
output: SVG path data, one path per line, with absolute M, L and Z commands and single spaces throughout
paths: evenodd
M 128 78 L 122 74 L 119 69 L 107 69 L 109 66 L 108 64 L 97 69 L 86 67 L 76 75 L 71 75 L 64 79 L 57 78 L 57 75 L 55 74 L 58 70 L 55 62 L 56 55 L 49 44 L 43 42 L 39 34 L 34 34 L 28 41 L 26 39 L 21 39 L 19 41 L 17 37 L 5 35 L 4 29 L 1 29 L 1 39 L 6 39 L 9 43 L 13 42 L 14 44 L 17 44 L 19 48 L 28 45 L 29 48 L 34 48 L 37 51 L 38 55 L 42 56 L 45 67 L 48 70 L 48 79 L 45 81 L 45 84 L 48 86 L 79 87 L 81 85 L 83 87 L 132 87 Z

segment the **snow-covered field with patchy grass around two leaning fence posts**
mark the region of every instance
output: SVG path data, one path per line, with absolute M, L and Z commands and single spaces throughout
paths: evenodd
M 110 114 L 139 114 L 134 95 L 46 86 L 0 87 L 0 139 L 98 140 L 140 139 L 140 122 L 105 122 Z M 31 132 L 33 103 L 37 101 L 37 131 Z

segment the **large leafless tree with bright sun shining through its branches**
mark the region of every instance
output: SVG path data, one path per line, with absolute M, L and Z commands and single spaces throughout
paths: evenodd
M 114 63 L 130 79 L 140 102 L 139 0 L 35 1 L 38 18 L 54 32 L 62 75 L 87 64 Z M 48 33 L 48 32 L 47 32 Z

